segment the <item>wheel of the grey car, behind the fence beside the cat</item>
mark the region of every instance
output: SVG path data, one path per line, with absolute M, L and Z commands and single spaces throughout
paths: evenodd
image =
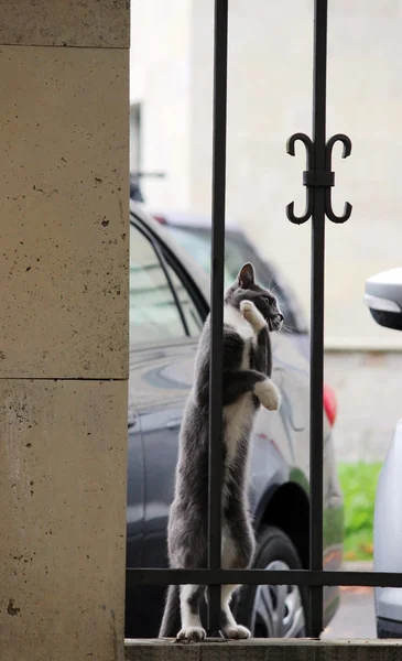
M 302 570 L 297 551 L 279 528 L 262 529 L 254 568 Z M 304 638 L 306 590 L 297 585 L 250 585 L 240 594 L 238 617 L 254 638 Z

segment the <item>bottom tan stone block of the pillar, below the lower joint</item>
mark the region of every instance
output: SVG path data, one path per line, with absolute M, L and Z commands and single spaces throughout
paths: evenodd
M 121 661 L 127 383 L 0 380 L 0 659 Z

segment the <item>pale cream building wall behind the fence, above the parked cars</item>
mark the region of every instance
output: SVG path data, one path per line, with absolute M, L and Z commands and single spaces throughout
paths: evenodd
M 134 47 L 148 40 L 152 51 L 131 74 L 144 104 L 144 165 L 167 175 L 145 192 L 153 206 L 208 214 L 213 0 L 164 6 L 133 9 L 143 26 Z M 334 207 L 348 199 L 354 212 L 345 226 L 327 223 L 327 346 L 402 347 L 362 304 L 367 277 L 400 262 L 401 11 L 396 0 L 330 3 L 328 136 L 345 132 L 354 144 L 346 161 L 335 149 Z M 311 134 L 312 12 L 307 1 L 232 0 L 228 83 L 228 215 L 278 262 L 306 311 L 311 225 L 293 226 L 284 214 L 292 199 L 303 208 L 305 155 L 292 159 L 285 142 L 295 131 Z

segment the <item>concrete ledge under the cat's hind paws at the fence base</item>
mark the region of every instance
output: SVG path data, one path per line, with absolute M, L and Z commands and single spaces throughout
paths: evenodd
M 126 640 L 126 661 L 396 661 L 402 640 Z

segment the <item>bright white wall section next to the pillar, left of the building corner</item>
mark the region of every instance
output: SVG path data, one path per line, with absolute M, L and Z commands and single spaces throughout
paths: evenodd
M 132 2 L 130 102 L 141 106 L 140 164 L 166 175 L 141 187 L 164 207 L 191 206 L 191 9 L 188 0 Z

